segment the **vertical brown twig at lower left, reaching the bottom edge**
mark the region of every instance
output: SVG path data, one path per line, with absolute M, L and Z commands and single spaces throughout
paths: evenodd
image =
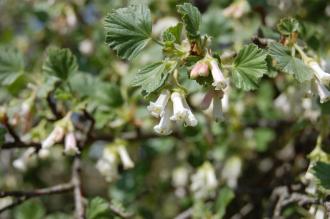
M 80 180 L 80 157 L 75 157 L 72 167 L 72 183 L 74 186 L 74 202 L 75 202 L 75 215 L 77 219 L 85 218 L 85 208 L 84 200 L 81 189 L 81 180 Z

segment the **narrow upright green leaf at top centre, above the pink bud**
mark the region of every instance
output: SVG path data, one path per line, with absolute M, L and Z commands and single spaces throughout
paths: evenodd
M 190 3 L 178 5 L 177 10 L 182 16 L 185 25 L 187 36 L 189 39 L 196 39 L 199 37 L 199 26 L 201 23 L 201 14 L 199 10 Z

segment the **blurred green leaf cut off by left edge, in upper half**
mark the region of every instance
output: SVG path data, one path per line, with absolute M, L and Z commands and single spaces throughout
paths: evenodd
M 22 54 L 14 48 L 0 49 L 0 82 L 8 86 L 17 81 L 24 73 L 24 60 Z

